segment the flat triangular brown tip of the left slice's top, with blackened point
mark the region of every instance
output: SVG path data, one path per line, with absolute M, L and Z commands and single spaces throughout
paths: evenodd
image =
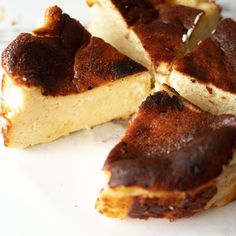
M 73 82 L 78 91 L 86 91 L 145 70 L 103 40 L 93 37 L 76 53 Z

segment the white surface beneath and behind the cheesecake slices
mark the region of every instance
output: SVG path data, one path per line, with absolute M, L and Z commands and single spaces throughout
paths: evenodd
M 221 2 L 226 2 L 226 9 L 235 17 L 235 0 Z M 88 20 L 83 0 L 2 0 L 6 15 L 21 18 L 14 27 L 6 28 L 12 18 L 0 24 L 2 46 L 22 28 L 35 25 L 43 8 L 55 3 L 83 22 Z M 0 235 L 236 235 L 236 203 L 173 223 L 162 219 L 120 221 L 99 215 L 94 203 L 103 184 L 101 168 L 125 127 L 124 122 L 113 122 L 23 151 L 1 147 Z

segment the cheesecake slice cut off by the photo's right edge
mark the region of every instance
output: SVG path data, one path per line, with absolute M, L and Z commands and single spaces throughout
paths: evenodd
M 174 64 L 167 83 L 204 110 L 236 114 L 236 22 L 222 20 L 209 38 Z

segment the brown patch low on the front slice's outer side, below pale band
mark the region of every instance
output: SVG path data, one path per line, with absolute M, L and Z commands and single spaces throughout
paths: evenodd
M 202 211 L 208 201 L 216 194 L 217 189 L 209 186 L 196 194 L 187 193 L 183 199 L 134 197 L 128 215 L 132 218 L 147 219 L 149 217 L 175 220 L 190 217 Z

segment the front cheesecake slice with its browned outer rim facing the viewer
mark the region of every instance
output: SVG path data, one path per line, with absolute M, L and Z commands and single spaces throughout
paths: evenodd
M 204 112 L 172 92 L 149 96 L 110 152 L 97 210 L 175 220 L 236 197 L 236 117 Z

